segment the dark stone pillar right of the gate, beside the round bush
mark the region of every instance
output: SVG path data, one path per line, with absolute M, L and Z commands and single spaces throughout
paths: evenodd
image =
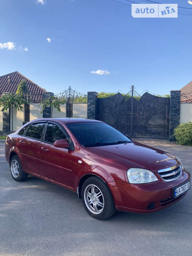
M 174 129 L 180 124 L 180 101 L 181 91 L 174 90 L 170 94 L 170 122 L 169 122 L 169 141 L 176 141 L 172 137 Z

